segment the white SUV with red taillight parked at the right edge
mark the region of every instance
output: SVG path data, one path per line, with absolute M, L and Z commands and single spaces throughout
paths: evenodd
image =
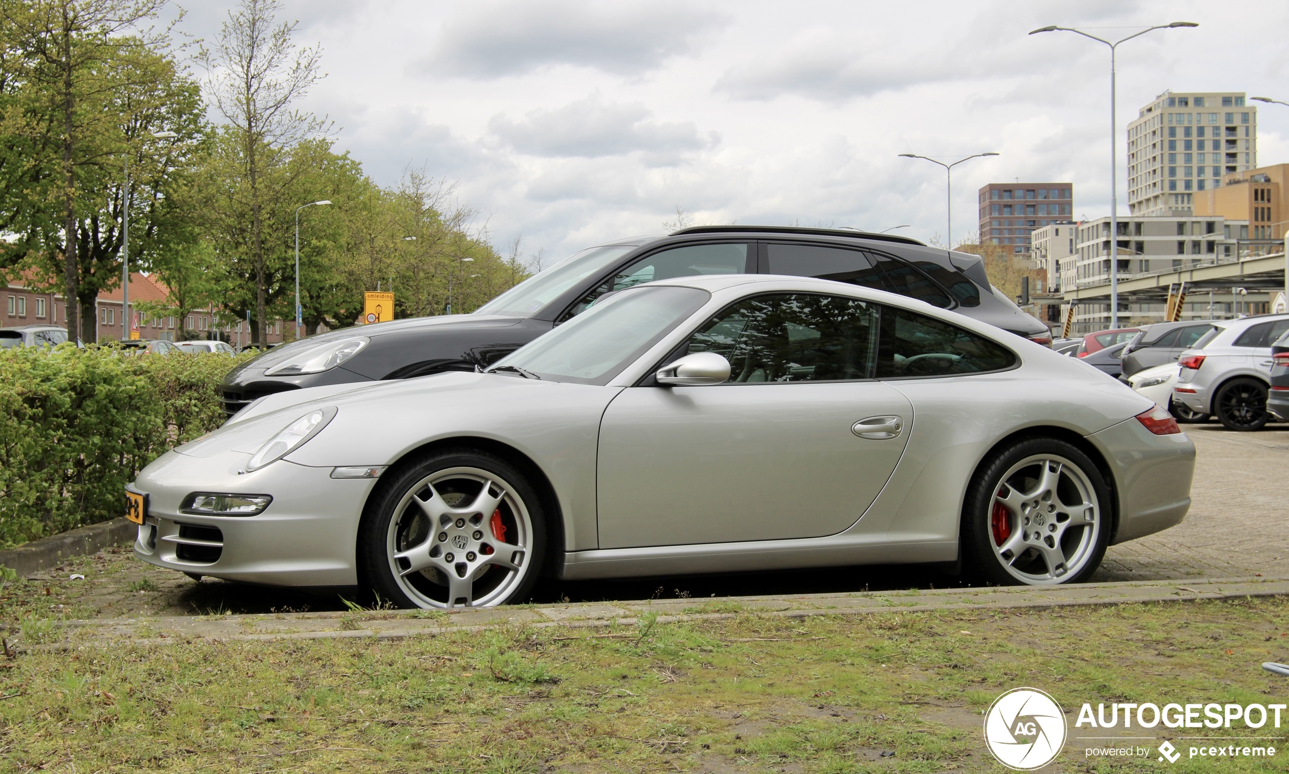
M 1173 401 L 1212 413 L 1228 430 L 1258 430 L 1271 419 L 1271 343 L 1289 331 L 1289 314 L 1226 319 L 1178 358 Z

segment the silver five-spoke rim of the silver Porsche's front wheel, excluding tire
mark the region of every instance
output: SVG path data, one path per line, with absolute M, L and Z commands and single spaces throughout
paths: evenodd
M 387 555 L 394 582 L 416 605 L 490 607 L 523 583 L 532 540 L 532 518 L 509 482 L 478 467 L 450 467 L 402 496 Z

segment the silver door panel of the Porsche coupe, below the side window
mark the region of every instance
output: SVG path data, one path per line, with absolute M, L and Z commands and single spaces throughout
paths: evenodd
M 858 420 L 898 416 L 864 439 Z M 630 388 L 599 431 L 599 546 L 620 549 L 842 532 L 873 502 L 913 430 L 877 381 Z

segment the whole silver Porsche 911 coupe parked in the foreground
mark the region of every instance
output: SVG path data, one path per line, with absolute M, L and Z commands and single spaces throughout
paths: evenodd
M 129 487 L 135 555 L 423 608 L 603 578 L 954 563 L 1085 580 L 1177 524 L 1195 448 L 1076 359 L 764 274 L 641 285 L 483 373 L 278 393 Z

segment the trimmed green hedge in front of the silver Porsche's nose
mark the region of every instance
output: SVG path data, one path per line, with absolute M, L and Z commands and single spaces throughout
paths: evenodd
M 0 547 L 120 516 L 144 465 L 223 424 L 217 385 L 247 357 L 0 350 Z

